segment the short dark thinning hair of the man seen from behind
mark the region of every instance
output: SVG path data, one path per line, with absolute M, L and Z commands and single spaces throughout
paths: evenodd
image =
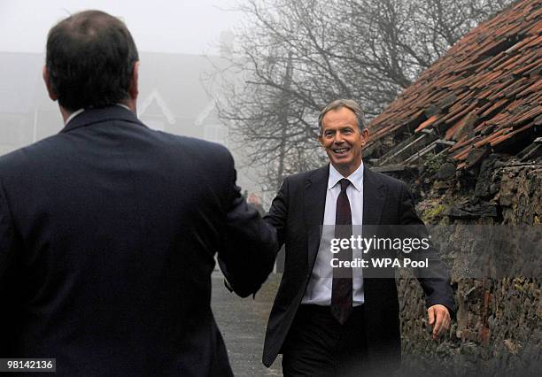
M 72 112 L 127 99 L 137 60 L 128 28 L 105 12 L 75 13 L 47 36 L 50 87 L 58 103 Z

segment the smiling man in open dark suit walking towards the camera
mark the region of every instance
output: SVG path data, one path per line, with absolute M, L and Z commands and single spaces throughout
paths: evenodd
M 369 269 L 337 268 L 329 244 L 334 237 L 356 235 L 356 226 L 371 238 L 381 235 L 374 229 L 399 231 L 395 226 L 423 223 L 403 182 L 362 164 L 368 129 L 358 104 L 332 102 L 319 125 L 330 165 L 287 177 L 265 217 L 277 229 L 279 244 L 285 243 L 286 256 L 263 362 L 269 366 L 283 353 L 283 373 L 289 376 L 391 373 L 400 362 L 395 279 L 369 276 Z M 352 260 L 352 248 L 338 255 Z M 436 338 L 450 326 L 453 296 L 443 265 L 435 253 L 427 255 L 433 274 L 419 281 Z

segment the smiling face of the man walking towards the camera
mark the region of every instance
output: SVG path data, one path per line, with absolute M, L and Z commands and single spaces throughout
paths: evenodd
M 361 147 L 368 141 L 368 129 L 360 132 L 356 114 L 341 107 L 326 112 L 321 119 L 319 139 L 331 164 L 339 173 L 348 176 L 361 164 Z

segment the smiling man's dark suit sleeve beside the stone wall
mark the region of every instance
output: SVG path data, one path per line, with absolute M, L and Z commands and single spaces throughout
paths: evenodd
M 414 209 L 414 199 L 405 184 L 401 185 L 399 218 L 399 224 L 406 226 L 403 227 L 403 231 L 409 234 L 403 236 L 413 236 L 414 234 L 416 238 L 430 240 L 429 232 L 422 219 L 418 217 Z M 435 304 L 443 304 L 452 314 L 455 311 L 455 305 L 448 269 L 438 257 L 432 242 L 429 243 L 429 250 L 423 251 L 423 257 L 429 258 L 429 267 L 414 268 L 414 275 L 425 293 L 426 305 L 430 307 Z

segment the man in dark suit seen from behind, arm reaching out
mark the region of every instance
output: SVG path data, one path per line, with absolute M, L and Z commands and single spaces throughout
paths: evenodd
M 275 229 L 226 148 L 136 117 L 138 55 L 97 11 L 50 30 L 43 77 L 66 126 L 0 158 L 0 357 L 63 375 L 231 375 L 210 308 L 215 251 L 242 296 Z

